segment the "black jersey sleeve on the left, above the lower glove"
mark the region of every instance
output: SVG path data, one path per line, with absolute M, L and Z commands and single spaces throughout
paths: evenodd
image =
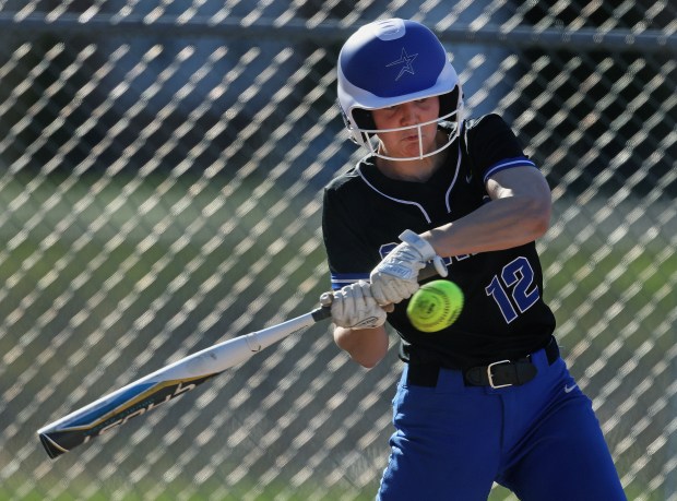
M 365 250 L 359 231 L 359 218 L 352 214 L 349 204 L 333 189 L 325 189 L 322 203 L 322 237 L 333 290 L 369 279 L 373 259 Z

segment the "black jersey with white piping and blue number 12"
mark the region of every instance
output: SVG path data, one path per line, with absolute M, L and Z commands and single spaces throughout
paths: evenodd
M 485 183 L 495 172 L 536 168 L 497 115 L 465 121 L 447 152 L 442 166 L 423 183 L 383 176 L 369 156 L 325 188 L 322 229 L 334 289 L 368 279 L 403 230 L 420 234 L 487 203 Z M 456 255 L 447 265 L 448 279 L 464 293 L 463 311 L 451 326 L 424 333 L 406 317 L 408 301 L 399 303 L 388 322 L 403 339 L 403 359 L 464 369 L 516 359 L 547 344 L 555 318 L 543 300 L 535 242 Z

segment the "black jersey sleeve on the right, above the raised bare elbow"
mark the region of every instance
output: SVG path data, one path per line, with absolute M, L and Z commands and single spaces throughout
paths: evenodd
M 473 121 L 467 130 L 467 150 L 476 174 L 484 183 L 504 169 L 536 167 L 524 154 L 520 141 L 508 123 L 491 114 Z

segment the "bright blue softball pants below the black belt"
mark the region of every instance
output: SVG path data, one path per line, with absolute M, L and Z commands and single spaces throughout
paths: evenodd
M 407 384 L 393 399 L 395 433 L 377 499 L 486 500 L 496 481 L 523 501 L 626 497 L 591 401 L 565 361 L 532 355 L 521 386 L 466 386 L 440 370 L 436 387 Z

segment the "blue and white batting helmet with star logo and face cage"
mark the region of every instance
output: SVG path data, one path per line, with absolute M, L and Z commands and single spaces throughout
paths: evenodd
M 393 160 L 433 155 L 448 147 L 462 128 L 463 92 L 456 71 L 437 36 L 415 21 L 391 19 L 360 27 L 339 55 L 339 105 L 351 139 L 370 153 Z M 378 133 L 371 110 L 438 96 L 435 121 L 455 121 L 449 141 L 433 152 L 395 158 L 380 154 L 371 138 Z M 429 123 L 429 122 L 428 122 Z M 419 123 L 403 129 L 417 129 Z

